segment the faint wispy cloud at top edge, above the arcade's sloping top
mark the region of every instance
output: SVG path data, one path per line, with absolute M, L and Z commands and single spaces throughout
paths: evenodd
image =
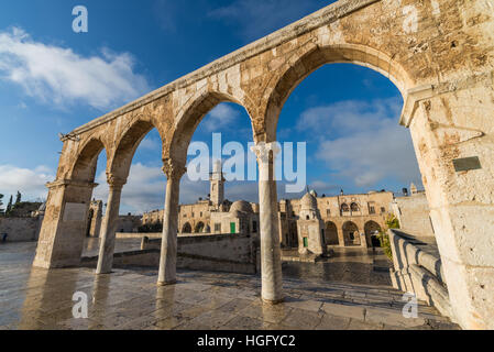
M 304 15 L 322 8 L 317 0 L 235 0 L 217 8 L 209 16 L 238 26 L 245 41 L 252 41 L 283 28 Z

